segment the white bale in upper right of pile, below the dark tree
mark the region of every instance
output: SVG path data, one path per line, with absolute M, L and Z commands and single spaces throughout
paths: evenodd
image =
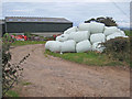
M 103 34 L 106 36 L 113 34 L 114 32 L 119 32 L 120 30 L 117 26 L 106 26 Z

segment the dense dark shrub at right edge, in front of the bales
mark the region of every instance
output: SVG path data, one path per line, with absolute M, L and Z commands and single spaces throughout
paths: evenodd
M 102 45 L 106 47 L 105 52 L 110 58 L 130 62 L 130 41 L 125 37 L 117 37 L 109 40 Z

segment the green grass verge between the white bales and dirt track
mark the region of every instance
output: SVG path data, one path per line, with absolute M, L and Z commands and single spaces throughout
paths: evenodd
M 108 55 L 96 52 L 59 54 L 45 51 L 45 54 L 89 66 L 124 66 L 124 63 L 110 59 Z

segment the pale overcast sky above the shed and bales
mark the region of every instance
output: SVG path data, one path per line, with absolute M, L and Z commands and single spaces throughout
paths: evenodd
M 74 25 L 98 16 L 112 16 L 120 26 L 130 25 L 130 0 L 4 0 L 2 15 L 4 16 L 45 16 L 66 18 Z

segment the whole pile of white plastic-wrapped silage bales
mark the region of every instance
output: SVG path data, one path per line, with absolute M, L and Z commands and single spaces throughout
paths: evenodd
M 128 37 L 117 26 L 106 26 L 103 23 L 80 23 L 79 26 L 67 29 L 56 41 L 47 41 L 45 48 L 54 53 L 65 52 L 103 52 L 100 44 L 116 37 Z

